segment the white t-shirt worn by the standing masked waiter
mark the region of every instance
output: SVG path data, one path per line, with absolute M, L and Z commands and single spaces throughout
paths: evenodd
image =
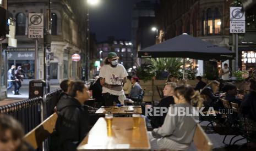
M 122 83 L 120 80 L 116 80 L 117 82 L 113 82 L 113 76 L 112 74 L 115 74 L 117 78 L 125 78 L 128 76 L 128 73 L 126 71 L 126 68 L 124 68 L 123 65 L 117 64 L 116 67 L 111 67 L 110 65 L 104 65 L 100 68 L 100 74 L 99 77 L 105 78 L 105 83 L 107 84 L 118 84 L 120 86 L 115 86 L 114 88 L 106 88 L 103 86 L 102 88 L 102 94 L 110 93 L 112 95 L 124 95 Z

